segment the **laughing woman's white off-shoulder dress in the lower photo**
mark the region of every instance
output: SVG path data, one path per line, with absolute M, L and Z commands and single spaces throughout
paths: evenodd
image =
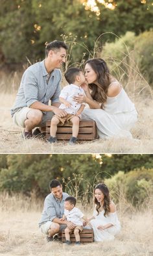
M 90 224 L 93 228 L 94 240 L 96 242 L 103 242 L 104 240 L 113 240 L 115 235 L 121 230 L 120 222 L 117 218 L 117 212 L 110 212 L 106 217 L 104 216 L 104 211 L 99 212 L 97 215 L 96 209 L 93 212 L 95 219 L 90 221 Z M 108 229 L 99 230 L 97 227 L 99 225 L 113 224 L 112 227 Z

